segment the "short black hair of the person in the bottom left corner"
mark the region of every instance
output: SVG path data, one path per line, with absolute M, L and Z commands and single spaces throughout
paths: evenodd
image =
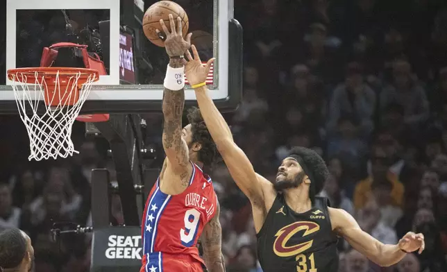
M 26 254 L 26 239 L 17 228 L 0 232 L 0 268 L 12 269 L 20 265 Z

